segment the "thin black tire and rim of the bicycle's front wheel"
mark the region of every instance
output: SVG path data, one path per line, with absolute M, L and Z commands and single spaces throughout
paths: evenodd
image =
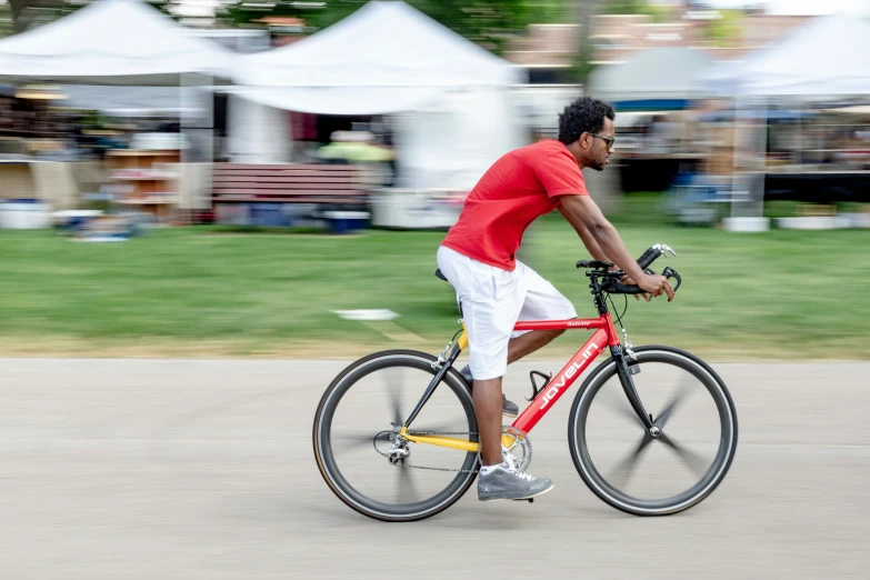
M 620 496 L 627 497 L 621 491 L 617 490 L 617 493 L 612 493 L 608 496 L 607 493 L 602 492 L 601 487 L 610 487 L 604 482 L 604 486 L 601 484 L 600 481 L 596 481 L 590 473 L 598 473 L 594 466 L 586 466 L 583 464 L 582 457 L 584 457 L 584 453 L 581 449 L 578 449 L 578 418 L 579 418 L 579 411 L 580 406 L 583 403 L 584 400 L 587 400 L 586 393 L 592 388 L 596 387 L 597 389 L 600 389 L 600 386 L 607 382 L 610 378 L 612 378 L 617 370 L 616 370 L 616 361 L 613 359 L 608 359 L 598 367 L 587 377 L 587 379 L 583 381 L 583 384 L 580 387 L 580 390 L 578 391 L 577 396 L 574 397 L 573 404 L 571 406 L 571 413 L 569 416 L 568 421 L 568 447 L 571 452 L 571 459 L 574 462 L 574 468 L 577 468 L 578 473 L 582 478 L 586 486 L 594 493 L 600 500 L 606 502 L 607 504 L 611 506 L 612 508 L 616 508 L 620 511 L 623 511 L 626 513 L 631 513 L 633 516 L 642 516 L 642 517 L 657 517 L 657 516 L 670 516 L 673 513 L 679 513 L 681 511 L 686 511 L 689 508 L 692 508 L 693 506 L 697 506 L 701 501 L 703 501 L 706 498 L 708 498 L 718 487 L 721 484 L 721 482 L 724 480 L 726 476 L 728 474 L 729 469 L 731 468 L 731 463 L 733 462 L 734 456 L 737 453 L 737 442 L 738 442 L 738 418 L 737 418 L 737 409 L 734 408 L 733 399 L 731 398 L 731 393 L 728 391 L 728 388 L 722 381 L 722 379 L 719 377 L 719 374 L 713 371 L 712 368 L 710 368 L 709 364 L 707 364 L 704 361 L 696 357 L 694 354 L 691 354 L 690 352 L 687 352 L 681 349 L 677 349 L 673 347 L 666 347 L 660 344 L 649 344 L 644 347 L 638 347 L 634 349 L 636 354 L 638 354 L 639 360 L 647 358 L 649 353 L 652 352 L 662 352 L 670 356 L 677 356 L 681 357 L 682 359 L 686 359 L 690 361 L 690 363 L 698 366 L 701 368 L 706 374 L 709 376 L 712 382 L 717 384 L 719 388 L 719 392 L 722 394 L 722 398 L 724 399 L 726 408 L 729 411 L 729 419 L 731 421 L 731 439 L 726 444 L 726 452 L 724 458 L 721 461 L 721 464 L 717 467 L 719 470 L 718 473 L 712 478 L 711 482 L 704 486 L 704 489 L 701 493 L 693 494 L 690 500 L 682 501 L 671 508 L 663 508 L 663 509 L 650 509 L 650 508 L 639 508 L 638 506 L 631 506 L 629 502 L 627 502 L 624 499 L 621 499 Z M 660 361 L 661 362 L 661 361 Z M 597 392 L 597 391 L 596 391 Z M 592 399 L 588 399 L 589 404 L 591 404 L 591 401 L 594 399 L 594 393 L 592 396 Z M 588 408 L 587 408 L 588 409 Z M 588 412 L 588 410 L 587 410 Z M 720 448 L 721 451 L 721 448 Z M 588 453 L 586 453 L 588 456 Z M 719 453 L 717 454 L 717 458 L 719 457 Z M 590 462 L 591 463 L 591 462 Z M 712 467 L 711 467 L 712 470 Z M 603 481 L 603 478 L 600 478 L 601 481 Z M 700 480 L 703 481 L 703 478 Z M 699 483 L 700 483 L 699 481 Z M 697 483 L 696 483 L 697 486 Z M 614 497 L 617 499 L 614 499 Z M 679 494 L 678 494 L 679 497 Z M 621 500 L 621 501 L 620 501 Z M 653 502 L 640 502 L 640 503 L 653 503 Z

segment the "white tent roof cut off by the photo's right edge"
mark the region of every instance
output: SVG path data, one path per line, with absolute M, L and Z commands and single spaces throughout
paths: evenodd
M 742 62 L 702 73 L 719 94 L 847 96 L 870 93 L 870 23 L 819 17 Z

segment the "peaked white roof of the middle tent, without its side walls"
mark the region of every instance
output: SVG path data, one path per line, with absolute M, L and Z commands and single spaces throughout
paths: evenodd
M 509 62 L 404 2 L 369 2 L 300 42 L 239 58 L 239 84 L 272 87 L 501 87 Z

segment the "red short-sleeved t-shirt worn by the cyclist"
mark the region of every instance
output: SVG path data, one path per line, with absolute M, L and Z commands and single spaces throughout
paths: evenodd
M 566 194 L 589 192 L 564 144 L 544 139 L 511 151 L 480 178 L 441 246 L 513 271 L 526 228 L 558 208 L 559 196 Z

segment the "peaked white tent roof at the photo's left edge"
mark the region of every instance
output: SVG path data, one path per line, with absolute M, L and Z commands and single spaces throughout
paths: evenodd
M 232 57 L 144 2 L 100 0 L 0 40 L 0 79 L 179 86 L 184 73 L 228 77 Z

